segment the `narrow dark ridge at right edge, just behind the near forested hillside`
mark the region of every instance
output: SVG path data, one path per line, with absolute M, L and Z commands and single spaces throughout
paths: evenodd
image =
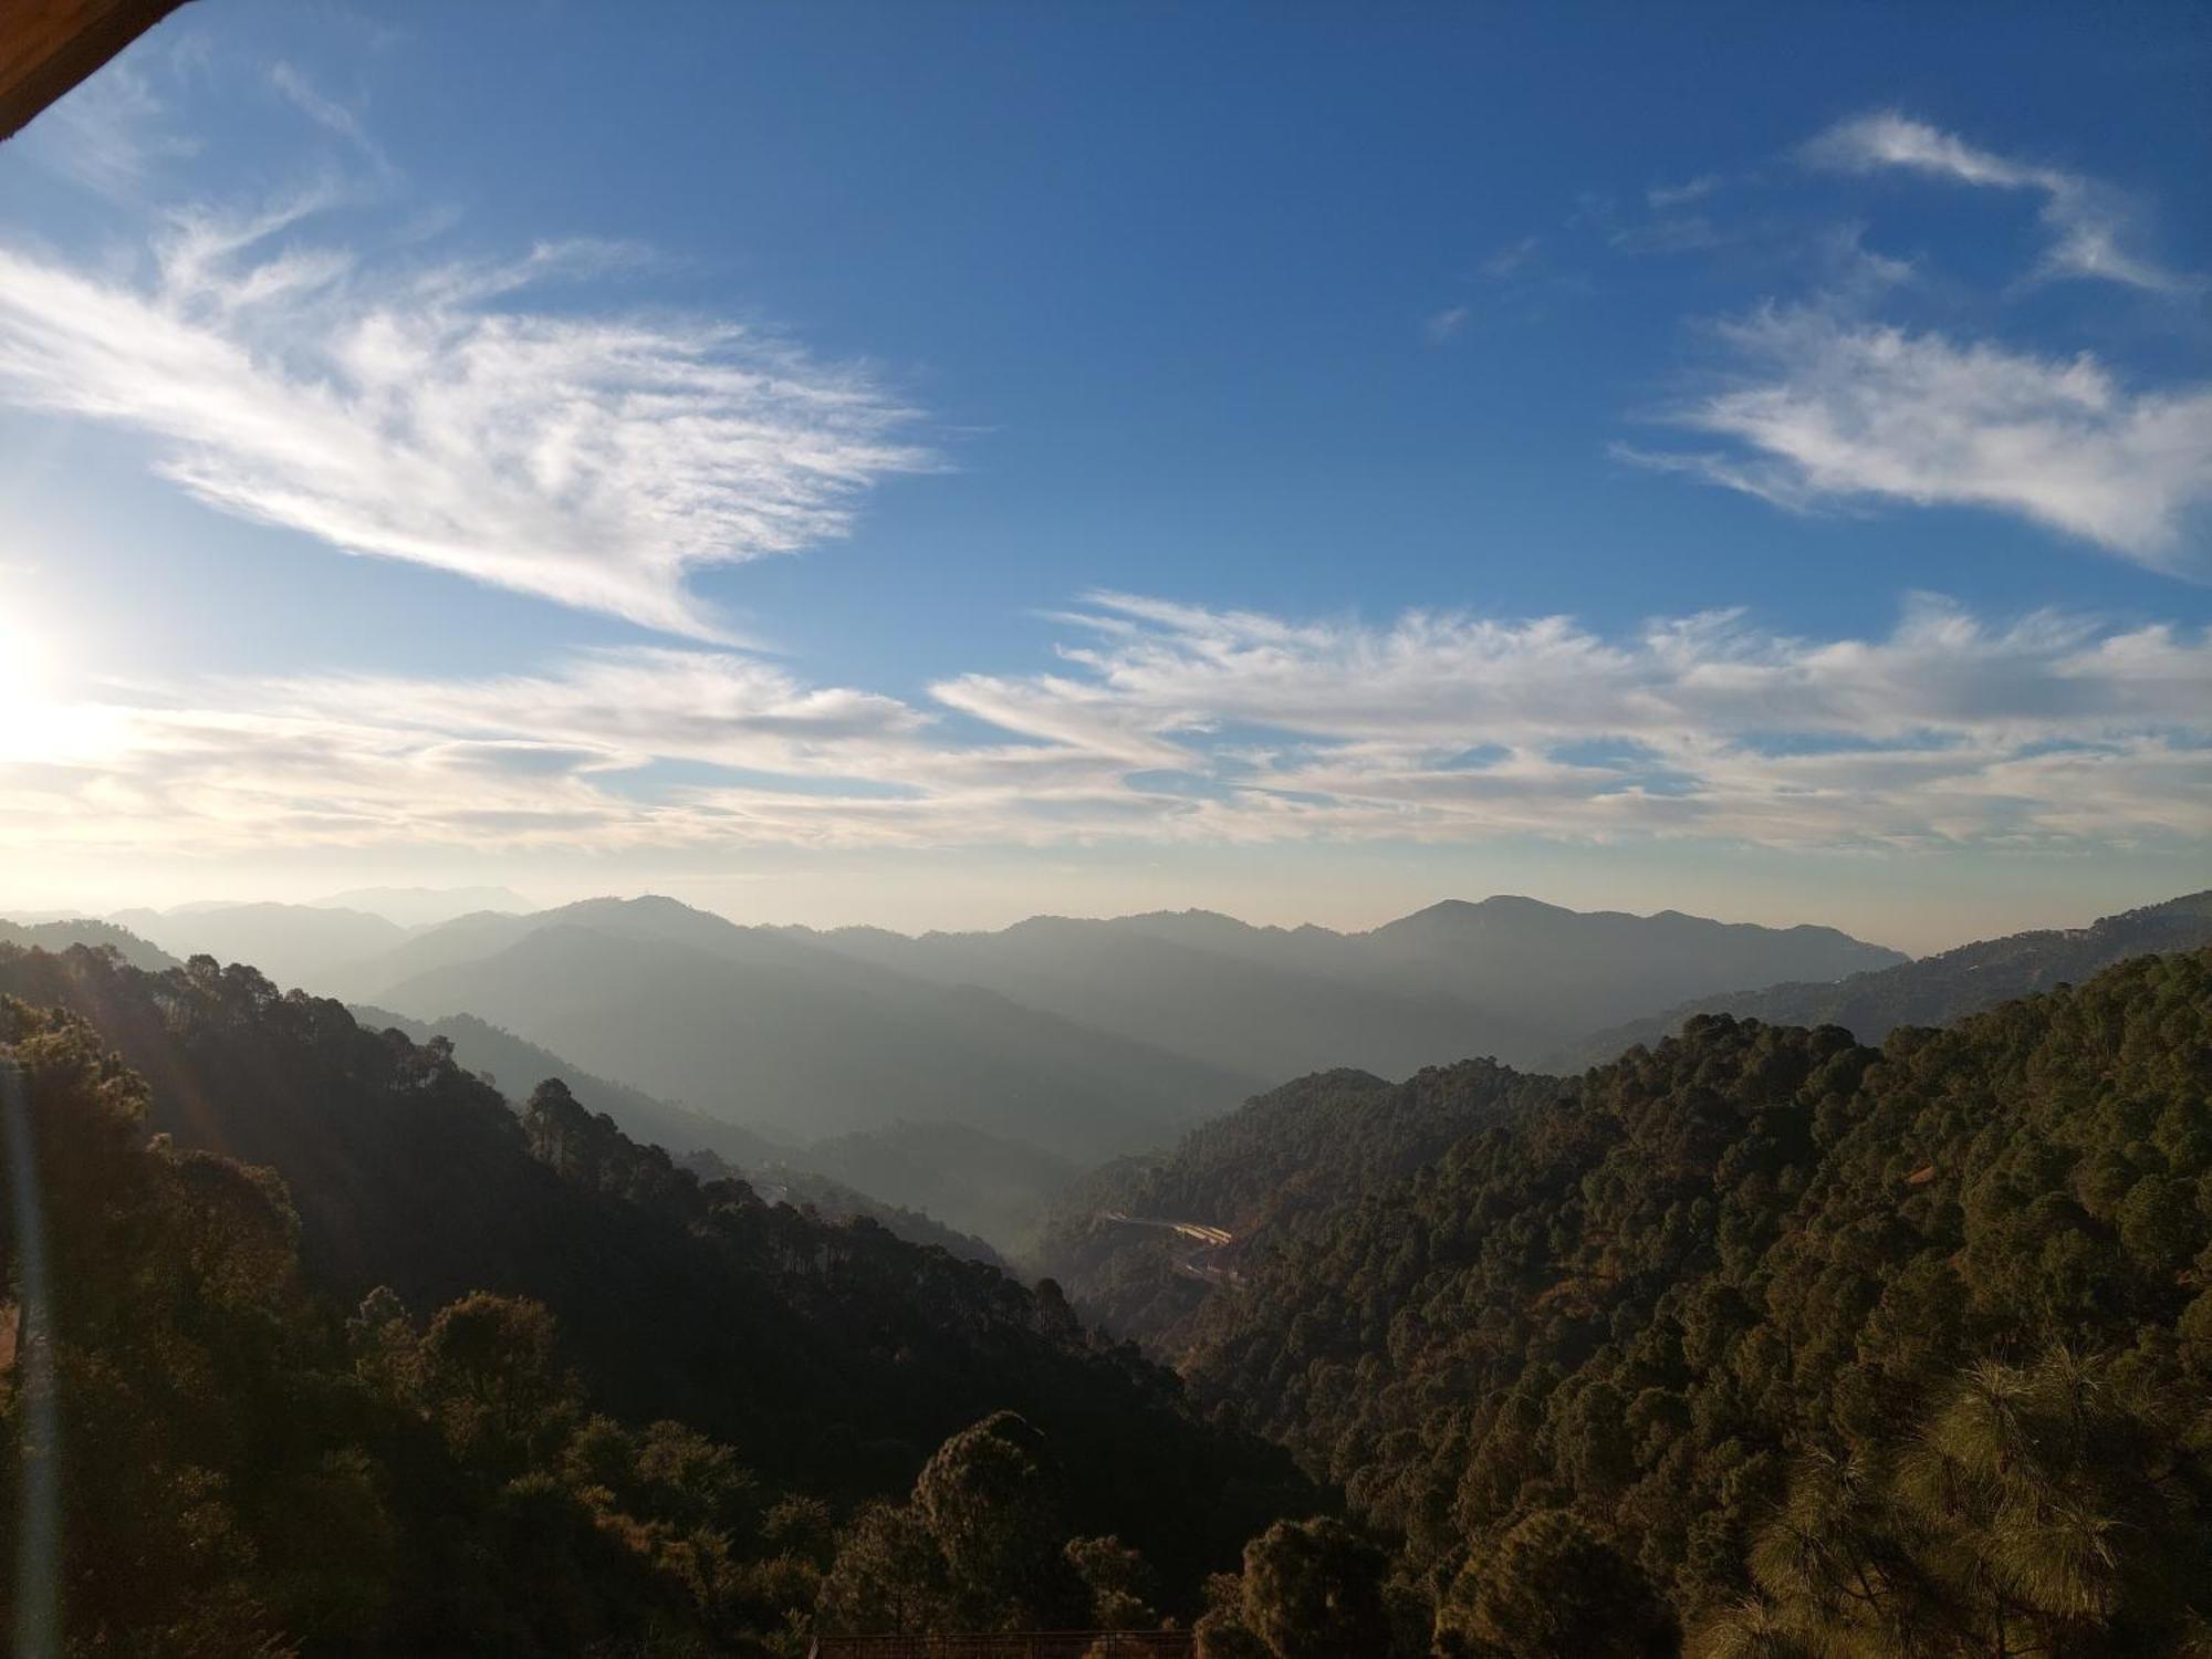
M 2212 945 L 2212 891 L 2170 898 L 2088 927 L 2046 927 L 2031 933 L 1962 945 L 1918 962 L 1816 984 L 1745 980 L 1734 991 L 1694 998 L 1646 1020 L 1635 1020 L 1553 1055 L 1548 1071 L 1582 1071 L 1644 1042 L 1659 1042 L 1699 1013 L 1794 1026 L 1843 1026 L 1860 1042 L 1880 1042 L 1896 1026 L 1938 1026 L 1993 1009 L 2006 998 L 2086 980 L 2099 969 L 2150 951 L 2194 951 Z

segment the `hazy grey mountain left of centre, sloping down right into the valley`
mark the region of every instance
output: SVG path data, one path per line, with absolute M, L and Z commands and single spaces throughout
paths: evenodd
M 504 949 L 418 973 L 380 1000 L 425 1018 L 467 1009 L 655 1095 L 810 1137 L 947 1119 L 1106 1157 L 1172 1137 L 1250 1086 L 672 900 L 593 900 L 515 927 Z

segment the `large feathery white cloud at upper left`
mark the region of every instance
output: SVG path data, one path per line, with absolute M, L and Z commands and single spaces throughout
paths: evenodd
M 179 215 L 137 281 L 0 248 L 0 398 L 146 438 L 219 511 L 695 637 L 695 568 L 929 465 L 865 372 L 761 330 L 518 303 L 635 250 L 380 270 L 299 239 L 332 195 Z

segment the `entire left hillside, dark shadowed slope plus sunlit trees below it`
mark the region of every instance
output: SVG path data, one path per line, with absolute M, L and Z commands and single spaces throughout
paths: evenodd
M 0 947 L 0 993 L 58 1321 L 0 1411 L 20 1447 L 51 1354 L 82 1650 L 796 1655 L 883 1617 L 887 1526 L 938 1621 L 1188 1613 L 1314 1502 L 1057 1292 L 701 1181 L 560 1082 L 518 1113 L 208 960 Z M 978 1555 L 1009 1462 L 1053 1502 Z

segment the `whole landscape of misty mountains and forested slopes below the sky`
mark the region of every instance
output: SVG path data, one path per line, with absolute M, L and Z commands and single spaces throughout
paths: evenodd
M 60 1405 L 95 1644 L 2143 1652 L 2203 1615 L 2212 894 L 1922 960 L 1528 900 L 4 933 L 64 1287 L 13 1210 L 7 1405 Z M 1367 1064 L 1252 1088 L 1270 1022 Z

